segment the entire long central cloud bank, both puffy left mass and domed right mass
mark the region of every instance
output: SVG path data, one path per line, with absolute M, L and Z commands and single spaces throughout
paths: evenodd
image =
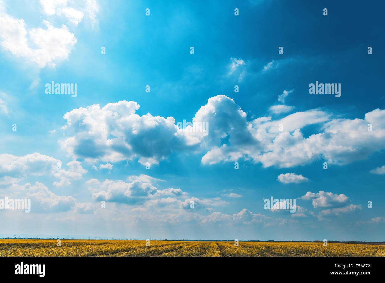
M 323 159 L 348 164 L 385 148 L 385 110 L 375 109 L 365 119 L 332 119 L 320 109 L 300 111 L 278 120 L 258 117 L 248 121 L 233 99 L 211 97 L 192 118 L 208 125 L 206 134 L 179 129 L 173 117 L 139 116 L 134 101 L 91 105 L 64 115 L 68 136 L 60 146 L 74 159 L 117 162 L 138 158 L 143 165 L 159 164 L 172 152 L 203 152 L 203 164 L 243 158 L 263 167 L 287 168 Z M 367 131 L 367 124 L 373 131 Z M 301 129 L 316 125 L 304 137 Z M 380 146 L 379 146 L 380 145 Z

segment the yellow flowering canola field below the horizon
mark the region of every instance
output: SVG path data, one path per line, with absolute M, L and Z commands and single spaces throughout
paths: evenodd
M 303 242 L 0 239 L 0 256 L 385 256 L 385 246 Z

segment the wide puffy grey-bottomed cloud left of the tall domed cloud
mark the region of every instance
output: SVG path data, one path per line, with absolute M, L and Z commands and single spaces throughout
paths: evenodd
M 139 104 L 120 101 L 74 109 L 64 115 L 62 127 L 73 136 L 60 140 L 62 149 L 74 159 L 117 162 L 139 158 L 146 165 L 159 164 L 173 150 L 187 149 L 188 134 L 177 134 L 173 117 L 135 114 Z M 199 140 L 198 140 L 199 141 Z

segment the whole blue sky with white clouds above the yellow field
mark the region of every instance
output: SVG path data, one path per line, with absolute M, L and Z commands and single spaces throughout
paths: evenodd
M 0 0 L 0 237 L 384 241 L 384 6 Z

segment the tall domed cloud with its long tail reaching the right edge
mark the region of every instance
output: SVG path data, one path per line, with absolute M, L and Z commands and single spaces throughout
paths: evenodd
M 210 125 L 208 136 L 200 137 L 201 147 L 208 150 L 203 164 L 244 158 L 280 168 L 319 159 L 338 165 L 365 159 L 385 148 L 384 119 L 385 110 L 380 109 L 366 113 L 365 119 L 331 119 L 330 113 L 311 109 L 279 120 L 259 117 L 247 121 L 246 113 L 224 95 L 209 99 L 195 116 L 195 121 Z M 367 130 L 368 123 L 373 131 Z M 301 129 L 315 124 L 321 131 L 304 137 Z

